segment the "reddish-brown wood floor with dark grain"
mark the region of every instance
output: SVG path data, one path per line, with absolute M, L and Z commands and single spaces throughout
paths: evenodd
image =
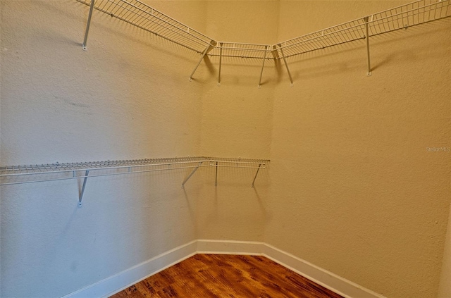
M 341 297 L 264 256 L 196 254 L 113 298 Z

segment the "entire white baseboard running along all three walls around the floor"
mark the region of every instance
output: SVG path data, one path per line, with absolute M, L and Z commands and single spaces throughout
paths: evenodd
M 233 240 L 194 240 L 168 252 L 155 256 L 148 261 L 133 266 L 128 270 L 84 287 L 63 298 L 109 297 L 121 290 L 144 280 L 175 263 L 183 261 L 194 254 L 247 254 L 266 256 L 268 259 L 299 273 L 305 278 L 349 298 L 385 298 L 371 290 L 352 283 L 334 273 L 299 259 L 288 252 L 264 242 Z

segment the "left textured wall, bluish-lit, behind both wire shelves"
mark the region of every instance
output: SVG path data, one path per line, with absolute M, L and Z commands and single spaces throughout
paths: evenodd
M 177 5 L 202 30 L 204 5 Z M 1 1 L 1 164 L 199 154 L 197 55 L 100 13 L 82 51 L 88 10 Z M 82 181 L 1 187 L 0 296 L 61 297 L 196 239 L 187 171 L 88 179 L 82 208 Z

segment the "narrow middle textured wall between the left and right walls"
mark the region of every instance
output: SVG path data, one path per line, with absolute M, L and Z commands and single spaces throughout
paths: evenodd
M 252 13 L 251 13 L 252 12 Z M 278 1 L 208 1 L 206 35 L 224 42 L 272 43 L 276 40 Z M 252 25 L 250 25 L 252 24 Z M 268 159 L 271 144 L 276 73 L 266 62 L 261 88 L 261 61 L 223 58 L 218 87 L 218 57 L 209 58 L 196 75 L 202 94 L 202 154 Z M 199 238 L 263 241 L 269 171 L 218 169 L 204 173 L 197 206 Z

